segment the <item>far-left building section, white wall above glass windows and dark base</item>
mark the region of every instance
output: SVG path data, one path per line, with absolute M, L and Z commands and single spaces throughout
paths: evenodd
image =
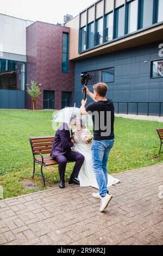
M 26 27 L 0 14 L 0 108 L 26 108 Z

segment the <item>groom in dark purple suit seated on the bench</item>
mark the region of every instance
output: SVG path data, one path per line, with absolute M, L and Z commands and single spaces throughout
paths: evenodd
M 53 159 L 59 163 L 58 169 L 60 175 L 60 188 L 65 188 L 65 170 L 68 161 L 76 162 L 69 180 L 69 184 L 80 185 L 77 178 L 80 168 L 84 162 L 84 156 L 71 150 L 74 144 L 74 140 L 72 138 L 73 125 L 76 125 L 76 118 L 74 117 L 71 118 L 70 124 L 62 124 L 55 134 L 52 146 L 51 157 L 53 157 Z

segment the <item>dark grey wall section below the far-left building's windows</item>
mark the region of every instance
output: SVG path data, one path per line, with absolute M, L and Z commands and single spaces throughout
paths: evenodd
M 0 108 L 25 108 L 25 92 L 18 90 L 0 90 Z

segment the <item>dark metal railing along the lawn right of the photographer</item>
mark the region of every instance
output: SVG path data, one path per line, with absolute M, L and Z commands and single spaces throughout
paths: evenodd
M 114 101 L 117 114 L 156 115 L 163 116 L 163 102 L 147 101 Z M 153 105 L 153 106 L 152 106 Z M 143 110 L 141 110 L 143 109 Z

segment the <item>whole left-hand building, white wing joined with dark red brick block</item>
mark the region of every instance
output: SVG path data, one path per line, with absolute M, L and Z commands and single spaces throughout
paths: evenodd
M 0 15 L 0 108 L 30 109 L 31 81 L 40 86 L 37 109 L 74 104 L 70 28 Z

